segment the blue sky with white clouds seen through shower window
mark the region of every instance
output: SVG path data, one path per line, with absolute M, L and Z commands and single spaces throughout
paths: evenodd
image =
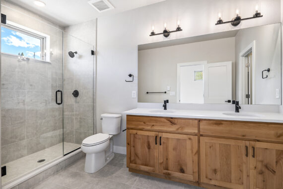
M 1 27 L 1 52 L 40 59 L 40 39 Z

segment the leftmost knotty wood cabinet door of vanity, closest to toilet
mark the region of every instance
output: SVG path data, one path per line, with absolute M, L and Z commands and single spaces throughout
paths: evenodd
M 127 130 L 127 166 L 158 172 L 158 132 Z

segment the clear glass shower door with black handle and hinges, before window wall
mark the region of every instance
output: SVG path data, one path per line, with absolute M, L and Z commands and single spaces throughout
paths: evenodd
M 2 185 L 63 156 L 63 31 L 1 1 Z M 58 92 L 59 93 L 59 92 Z M 58 103 L 61 102 L 58 94 Z

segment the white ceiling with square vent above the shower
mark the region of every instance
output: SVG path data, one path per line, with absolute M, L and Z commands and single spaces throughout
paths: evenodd
M 146 6 L 164 0 L 109 0 L 115 9 L 99 13 L 87 1 L 88 0 L 42 0 L 45 7 L 39 7 L 33 0 L 10 0 L 35 13 L 49 18 L 62 26 L 69 26 L 100 16 L 109 16 L 126 10 Z

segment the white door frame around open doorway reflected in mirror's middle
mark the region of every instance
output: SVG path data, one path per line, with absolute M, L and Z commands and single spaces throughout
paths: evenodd
M 185 67 L 185 66 L 199 66 L 199 65 L 203 65 L 203 91 L 205 92 L 205 80 L 204 80 L 204 71 L 205 71 L 205 65 L 208 64 L 208 61 L 198 61 L 198 62 L 186 62 L 186 63 L 178 63 L 177 64 L 177 91 L 176 91 L 176 95 L 177 95 L 177 103 L 181 103 L 180 102 L 180 74 L 181 74 L 181 67 Z M 204 96 L 205 97 L 205 96 Z

